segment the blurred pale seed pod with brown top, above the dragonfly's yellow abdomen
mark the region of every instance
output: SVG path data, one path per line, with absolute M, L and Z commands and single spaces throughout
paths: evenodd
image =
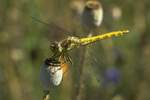
M 98 1 L 87 1 L 81 21 L 84 27 L 93 29 L 99 27 L 103 20 L 103 9 Z

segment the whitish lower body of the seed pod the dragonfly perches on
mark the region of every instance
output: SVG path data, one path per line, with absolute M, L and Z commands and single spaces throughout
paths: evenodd
M 63 70 L 60 66 L 49 66 L 44 64 L 40 69 L 40 80 L 44 90 L 60 85 L 63 78 Z

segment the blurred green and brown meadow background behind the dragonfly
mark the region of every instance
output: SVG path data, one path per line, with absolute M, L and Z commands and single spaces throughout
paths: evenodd
M 0 0 L 0 100 L 42 100 L 39 71 L 50 42 L 66 38 L 67 31 L 86 36 L 71 3 Z M 150 0 L 101 3 L 99 32 L 130 33 L 88 46 L 84 66 L 79 59 L 84 47 L 71 51 L 73 65 L 61 85 L 51 89 L 51 100 L 150 100 Z

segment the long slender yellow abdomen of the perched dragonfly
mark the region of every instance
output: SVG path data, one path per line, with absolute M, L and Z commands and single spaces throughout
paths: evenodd
M 103 40 L 103 39 L 108 39 L 108 38 L 112 38 L 112 37 L 122 36 L 124 34 L 127 34 L 128 32 L 129 32 L 129 30 L 114 31 L 114 32 L 109 32 L 109 33 L 93 36 L 93 37 L 81 38 L 80 43 L 81 43 L 81 45 L 87 45 L 87 44 L 96 42 L 98 40 Z

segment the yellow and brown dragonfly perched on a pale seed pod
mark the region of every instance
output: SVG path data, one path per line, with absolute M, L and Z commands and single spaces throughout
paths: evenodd
M 70 62 L 72 64 L 71 57 L 68 54 L 70 50 L 74 48 L 79 48 L 81 46 L 89 45 L 100 40 L 104 40 L 112 37 L 119 37 L 127 34 L 128 32 L 129 30 L 123 30 L 123 31 L 104 33 L 92 37 L 84 37 L 84 38 L 68 37 L 62 41 L 53 42 L 50 44 L 50 49 L 53 53 L 51 58 L 56 60 L 63 58 L 65 60 L 64 62 Z

